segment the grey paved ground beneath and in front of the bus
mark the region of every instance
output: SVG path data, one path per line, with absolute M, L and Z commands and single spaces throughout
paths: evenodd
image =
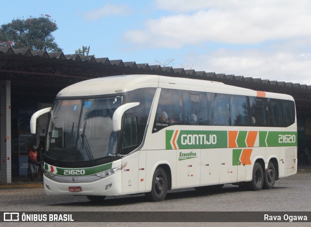
M 47 196 L 42 188 L 0 189 L 0 211 L 311 211 L 310 193 L 311 172 L 298 172 L 297 175 L 279 179 L 271 190 L 241 191 L 238 186 L 233 185 L 225 185 L 218 192 L 198 192 L 191 188 L 170 191 L 163 202 L 149 202 L 144 195 L 133 195 L 106 197 L 103 203 L 97 204 L 90 202 L 86 196 Z M 2 224 L 9 226 L 12 223 Z M 18 224 L 28 226 L 30 223 Z M 86 226 L 86 224 L 71 223 L 70 226 Z M 203 224 L 179 223 L 178 226 L 203 226 Z M 310 226 L 310 222 L 273 223 L 273 225 L 265 223 L 265 226 L 284 226 L 284 224 Z M 44 225 L 53 226 L 54 224 L 45 223 Z M 57 225 L 67 226 L 69 223 L 67 225 L 57 223 Z M 92 224 L 92 226 L 103 225 L 110 226 L 116 223 Z M 118 226 L 134 225 L 158 226 L 156 223 L 118 224 Z M 163 223 L 163 225 L 176 226 L 176 223 Z M 35 223 L 35 226 L 41 226 L 41 224 Z M 257 224 L 212 223 L 209 226 L 257 226 Z

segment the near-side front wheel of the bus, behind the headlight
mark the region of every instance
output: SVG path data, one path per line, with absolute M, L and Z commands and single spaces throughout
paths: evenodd
M 163 168 L 158 167 L 152 178 L 151 192 L 146 193 L 147 197 L 153 202 L 160 202 L 165 199 L 168 190 L 168 178 Z

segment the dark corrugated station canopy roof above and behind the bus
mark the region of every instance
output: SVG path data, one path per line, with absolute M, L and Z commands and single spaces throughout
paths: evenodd
M 12 100 L 40 99 L 40 102 L 52 103 L 56 94 L 71 84 L 97 77 L 122 74 L 187 77 L 219 81 L 260 91 L 290 94 L 295 99 L 298 115 L 311 113 L 311 86 L 298 83 L 161 67 L 147 63 L 137 64 L 135 61 L 123 62 L 122 60 L 110 60 L 107 57 L 95 58 L 93 55 L 80 56 L 63 52 L 0 47 L 0 80 L 11 81 Z

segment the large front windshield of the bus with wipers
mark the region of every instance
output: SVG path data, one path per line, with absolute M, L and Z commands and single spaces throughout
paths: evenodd
M 46 156 L 54 161 L 95 164 L 116 153 L 112 116 L 122 96 L 57 99 L 51 112 Z

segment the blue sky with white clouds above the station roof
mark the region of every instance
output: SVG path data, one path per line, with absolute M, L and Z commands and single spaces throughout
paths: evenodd
M 0 24 L 50 15 L 64 54 L 90 46 L 96 58 L 311 85 L 310 0 L 15 0 L 1 8 Z

